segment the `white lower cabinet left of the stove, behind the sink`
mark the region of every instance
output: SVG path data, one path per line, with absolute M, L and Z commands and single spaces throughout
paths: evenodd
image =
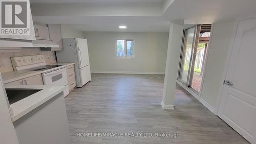
M 41 74 L 35 75 L 32 77 L 20 79 L 17 81 L 13 81 L 10 83 L 5 84 L 6 86 L 13 86 L 13 85 L 44 85 L 42 82 L 42 76 Z

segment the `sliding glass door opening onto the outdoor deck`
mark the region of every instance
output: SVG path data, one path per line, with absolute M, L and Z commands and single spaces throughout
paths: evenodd
M 178 80 L 200 93 L 211 25 L 184 30 Z

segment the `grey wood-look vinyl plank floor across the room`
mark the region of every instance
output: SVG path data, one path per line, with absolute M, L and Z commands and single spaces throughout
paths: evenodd
M 163 82 L 163 75 L 92 74 L 65 98 L 72 143 L 248 143 L 178 85 L 175 110 L 163 110 Z M 180 136 L 77 137 L 80 132 Z

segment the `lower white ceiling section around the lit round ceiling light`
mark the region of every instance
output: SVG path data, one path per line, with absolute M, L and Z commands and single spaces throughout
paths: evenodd
M 168 32 L 169 21 L 161 17 L 33 17 L 37 22 L 66 23 L 70 27 L 88 32 Z M 76 22 L 74 22 L 76 21 Z M 76 23 L 76 24 L 73 24 Z M 86 24 L 84 24 L 86 23 Z M 118 29 L 118 26 L 127 29 Z

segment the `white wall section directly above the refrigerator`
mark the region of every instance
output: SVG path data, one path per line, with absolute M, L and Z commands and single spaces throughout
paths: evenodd
M 70 28 L 68 25 L 60 25 L 62 38 L 83 38 L 83 32 Z

